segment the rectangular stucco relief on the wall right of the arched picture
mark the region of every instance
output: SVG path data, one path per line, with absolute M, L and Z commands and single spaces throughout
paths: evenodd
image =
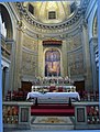
M 68 53 L 68 69 L 70 76 L 84 74 L 84 55 L 82 50 L 77 52 Z

